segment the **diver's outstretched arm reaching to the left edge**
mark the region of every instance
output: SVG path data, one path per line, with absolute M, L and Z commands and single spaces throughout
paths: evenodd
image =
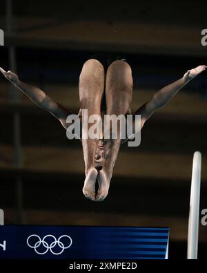
M 26 94 L 35 104 L 50 112 L 61 122 L 64 128 L 67 128 L 66 119 L 70 114 L 67 109 L 64 109 L 63 106 L 53 101 L 46 93 L 41 91 L 41 89 L 21 82 L 18 76 L 10 70 L 6 72 L 0 67 L 0 71 L 6 79 Z

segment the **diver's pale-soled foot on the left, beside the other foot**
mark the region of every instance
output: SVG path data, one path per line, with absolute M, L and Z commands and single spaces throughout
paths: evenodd
M 95 201 L 96 192 L 95 192 L 95 184 L 97 180 L 98 171 L 95 168 L 91 168 L 86 176 L 83 186 L 83 194 L 86 198 Z

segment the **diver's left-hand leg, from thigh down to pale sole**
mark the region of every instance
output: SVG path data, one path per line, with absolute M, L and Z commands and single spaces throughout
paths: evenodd
M 88 117 L 93 114 L 101 114 L 101 98 L 104 91 L 104 68 L 97 59 L 89 59 L 81 70 L 79 77 L 79 99 L 81 110 L 88 110 Z M 82 120 L 84 118 L 84 111 L 82 111 Z M 92 124 L 88 124 L 90 129 Z M 84 129 L 82 131 L 82 135 Z M 88 132 L 85 132 L 88 134 Z M 95 151 L 97 148 L 97 141 L 82 139 L 83 157 L 85 161 L 86 180 L 83 186 L 83 194 L 86 198 L 95 200 L 95 182 L 97 178 L 97 170 L 94 167 Z

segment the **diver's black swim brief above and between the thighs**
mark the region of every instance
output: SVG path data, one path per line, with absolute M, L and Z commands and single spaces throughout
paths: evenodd
M 117 60 L 126 62 L 126 59 L 123 56 L 114 53 L 97 53 L 92 55 L 90 59 L 97 59 L 103 65 L 105 72 L 108 69 L 108 66 L 112 64 L 112 62 Z

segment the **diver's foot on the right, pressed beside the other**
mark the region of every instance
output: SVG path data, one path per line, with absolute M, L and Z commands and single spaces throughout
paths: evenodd
M 98 174 L 98 182 L 99 182 L 99 191 L 96 196 L 96 201 L 103 201 L 108 195 L 108 189 L 110 185 L 110 180 L 108 180 L 106 172 L 101 169 Z

